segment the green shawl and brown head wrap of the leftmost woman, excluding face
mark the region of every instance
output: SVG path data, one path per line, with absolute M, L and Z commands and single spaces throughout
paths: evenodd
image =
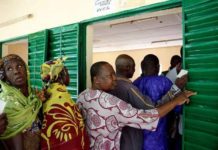
M 5 76 L 5 65 L 13 60 L 20 61 L 27 71 L 27 82 L 29 96 L 26 97 L 16 87 L 8 84 Z M 6 81 L 6 82 L 5 82 Z M 8 125 L 0 139 L 8 139 L 20 132 L 24 132 L 27 128 L 31 128 L 35 121 L 39 109 L 41 108 L 41 101 L 31 91 L 29 80 L 28 67 L 21 57 L 15 54 L 10 54 L 0 60 L 0 102 L 6 102 L 4 113 L 7 114 Z

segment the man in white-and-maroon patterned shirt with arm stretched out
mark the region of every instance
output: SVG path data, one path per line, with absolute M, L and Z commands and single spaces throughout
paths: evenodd
M 107 93 L 116 85 L 112 66 L 96 62 L 90 69 L 92 87 L 83 91 L 77 103 L 82 110 L 90 137 L 91 149 L 120 149 L 121 131 L 124 126 L 154 131 L 160 117 L 177 105 L 189 102 L 194 93 L 187 91 L 174 100 L 154 109 L 136 109 L 125 101 Z

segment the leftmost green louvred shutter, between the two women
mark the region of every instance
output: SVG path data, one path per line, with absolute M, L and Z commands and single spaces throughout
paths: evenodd
M 28 36 L 28 66 L 30 70 L 30 84 L 33 88 L 41 89 L 42 80 L 40 66 L 46 59 L 47 30 Z

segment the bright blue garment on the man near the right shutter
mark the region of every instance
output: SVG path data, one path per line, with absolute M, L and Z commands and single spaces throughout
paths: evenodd
M 140 91 L 151 98 L 154 104 L 164 96 L 172 82 L 164 76 L 143 76 L 133 82 Z M 167 150 L 167 118 L 162 117 L 155 132 L 144 131 L 144 150 Z

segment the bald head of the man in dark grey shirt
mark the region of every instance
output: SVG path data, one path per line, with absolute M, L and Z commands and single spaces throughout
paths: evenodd
M 119 77 L 132 78 L 135 72 L 135 62 L 133 58 L 126 54 L 121 54 L 116 58 L 116 74 Z

